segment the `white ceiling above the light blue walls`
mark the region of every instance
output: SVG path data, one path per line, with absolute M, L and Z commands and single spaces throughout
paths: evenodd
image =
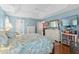
M 75 4 L 10 4 L 0 5 L 11 16 L 43 19 L 46 16 L 57 15 L 78 8 Z

